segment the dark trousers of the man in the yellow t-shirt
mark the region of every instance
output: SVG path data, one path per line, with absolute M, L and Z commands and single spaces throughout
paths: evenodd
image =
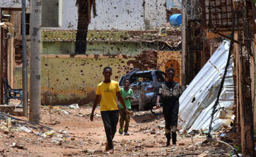
M 114 149 L 113 139 L 117 132 L 117 123 L 119 118 L 118 110 L 101 111 L 101 118 L 105 128 L 105 136 L 110 149 Z

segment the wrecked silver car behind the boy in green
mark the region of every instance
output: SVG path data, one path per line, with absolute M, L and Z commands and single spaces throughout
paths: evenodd
M 146 90 L 146 104 L 150 104 L 151 98 L 153 96 L 157 96 L 159 87 L 163 82 L 165 82 L 167 75 L 158 70 L 139 71 L 139 68 L 135 68 L 128 74 L 122 76 L 118 82 L 120 88 L 124 87 L 124 82 L 126 79 L 131 80 L 130 88 L 133 90 L 134 99 L 131 101 L 131 105 L 139 104 L 139 96 L 142 85 L 144 85 Z

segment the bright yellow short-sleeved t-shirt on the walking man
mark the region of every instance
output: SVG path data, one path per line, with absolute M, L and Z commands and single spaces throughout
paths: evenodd
M 117 92 L 120 91 L 118 82 L 111 80 L 110 83 L 101 82 L 97 85 L 96 95 L 101 95 L 101 111 L 118 110 Z

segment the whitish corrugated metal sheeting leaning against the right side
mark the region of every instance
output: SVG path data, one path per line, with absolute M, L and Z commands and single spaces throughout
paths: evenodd
M 207 131 L 210 124 L 212 107 L 216 101 L 220 82 L 228 59 L 229 42 L 223 41 L 196 75 L 194 80 L 180 97 L 178 126 L 184 132 L 192 130 Z M 234 104 L 233 57 L 229 61 L 224 87 L 213 119 L 213 132 L 218 131 L 222 124 L 230 125 Z

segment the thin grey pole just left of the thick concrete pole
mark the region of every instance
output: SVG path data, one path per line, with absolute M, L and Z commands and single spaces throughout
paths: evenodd
M 22 0 L 22 91 L 23 116 L 28 117 L 28 71 L 27 71 L 27 37 L 26 37 L 26 0 Z

